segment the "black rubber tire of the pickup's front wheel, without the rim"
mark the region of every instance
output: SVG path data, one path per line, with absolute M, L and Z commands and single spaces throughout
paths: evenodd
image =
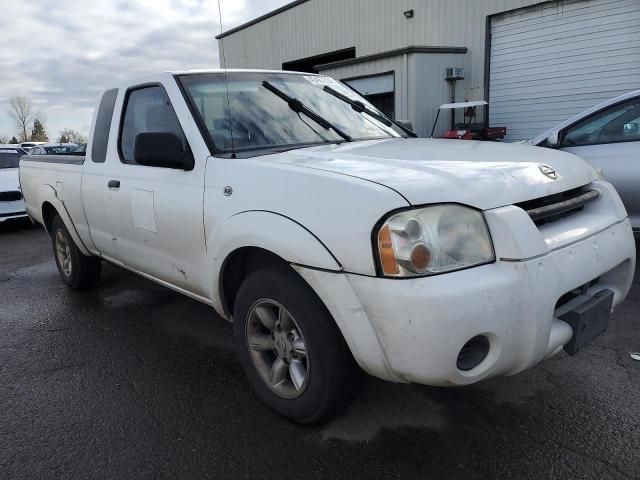
M 249 326 L 252 324 L 250 314 L 265 299 L 277 302 L 290 313 L 306 344 L 305 387 L 295 398 L 276 393 L 256 366 L 260 360 L 252 357 L 254 349 L 248 342 L 248 329 L 253 328 Z M 273 410 L 295 422 L 309 424 L 332 419 L 353 401 L 360 389 L 362 370 L 333 318 L 309 285 L 288 266 L 258 270 L 244 280 L 235 299 L 234 340 L 245 375 L 256 395 Z M 260 354 L 277 358 L 275 347 L 273 352 L 267 350 Z M 293 385 L 290 372 L 288 378 Z

